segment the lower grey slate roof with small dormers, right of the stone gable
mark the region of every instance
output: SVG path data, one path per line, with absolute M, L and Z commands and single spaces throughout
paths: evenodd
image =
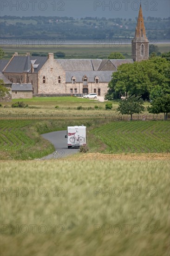
M 72 76 L 76 78 L 76 82 L 82 82 L 84 75 L 87 76 L 88 82 L 94 82 L 95 76 L 98 76 L 99 82 L 109 82 L 111 81 L 111 75 L 113 71 L 66 71 L 65 81 L 72 83 Z

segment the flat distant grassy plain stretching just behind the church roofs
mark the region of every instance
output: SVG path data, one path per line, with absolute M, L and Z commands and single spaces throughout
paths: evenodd
M 170 51 L 170 46 L 168 43 L 160 43 L 157 44 L 159 48 L 159 52 L 166 53 Z M 27 52 L 30 53 L 55 53 L 55 52 L 62 52 L 65 53 L 65 59 L 108 59 L 108 56 L 111 54 L 111 52 L 121 52 L 122 54 L 126 55 L 127 59 L 131 59 L 131 44 L 124 45 L 122 42 L 122 45 L 120 47 L 118 46 L 112 46 L 109 47 L 109 45 L 67 45 L 65 42 L 65 45 L 62 47 L 59 47 L 58 45 L 52 46 L 47 45 L 46 47 L 39 47 L 39 45 L 35 46 L 24 46 L 16 48 L 16 45 L 13 44 L 10 45 L 4 45 L 3 51 L 5 52 L 4 59 L 9 58 L 10 54 L 13 54 L 14 52 L 18 52 L 19 54 L 26 54 Z

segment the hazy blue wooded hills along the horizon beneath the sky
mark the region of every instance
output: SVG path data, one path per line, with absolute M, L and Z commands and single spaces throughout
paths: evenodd
M 145 28 L 149 40 L 170 39 L 170 17 L 145 19 Z M 91 40 L 94 38 L 133 38 L 137 18 L 135 20 L 115 18 L 106 19 L 85 17 L 17 17 L 2 16 L 0 18 L 1 38 L 53 38 L 65 40 Z

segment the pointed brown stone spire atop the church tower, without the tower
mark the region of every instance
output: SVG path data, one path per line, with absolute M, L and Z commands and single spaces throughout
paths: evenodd
M 138 14 L 138 19 L 137 19 L 135 38 L 144 38 L 144 39 L 147 38 L 146 32 L 145 32 L 145 27 L 144 27 L 144 17 L 143 17 L 143 13 L 142 13 L 141 3 L 140 3 L 139 14 Z

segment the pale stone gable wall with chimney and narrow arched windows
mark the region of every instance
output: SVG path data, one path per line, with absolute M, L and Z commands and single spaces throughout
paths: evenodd
M 59 63 L 54 60 L 53 54 L 48 55 L 48 60 L 39 70 L 38 94 L 65 94 L 65 71 Z M 44 77 L 45 79 L 43 79 Z

